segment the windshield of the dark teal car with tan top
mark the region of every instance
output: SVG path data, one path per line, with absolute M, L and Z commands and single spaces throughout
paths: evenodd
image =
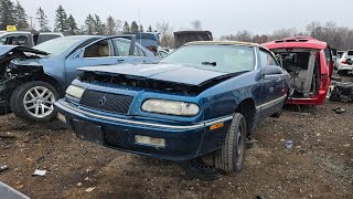
M 254 70 L 255 52 L 254 48 L 240 45 L 186 45 L 164 57 L 161 63 L 236 73 Z

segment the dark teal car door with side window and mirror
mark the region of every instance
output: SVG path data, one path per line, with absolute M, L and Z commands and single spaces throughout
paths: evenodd
M 280 66 L 276 62 L 272 54 L 266 50 L 260 50 L 261 69 L 266 71 L 266 66 Z M 261 117 L 268 117 L 282 107 L 284 88 L 286 86 L 286 78 L 284 74 L 263 75 L 261 80 L 261 104 L 259 106 Z

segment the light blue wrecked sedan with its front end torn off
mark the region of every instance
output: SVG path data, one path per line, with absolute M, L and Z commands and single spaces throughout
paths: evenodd
M 0 46 L 0 105 L 20 118 L 47 122 L 77 67 L 154 62 L 154 55 L 126 36 L 65 36 L 28 49 Z

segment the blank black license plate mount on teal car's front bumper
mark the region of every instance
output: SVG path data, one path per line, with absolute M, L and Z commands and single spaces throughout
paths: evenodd
M 99 145 L 104 144 L 101 127 L 92 123 L 82 121 L 74 121 L 76 136 L 79 139 L 96 143 Z

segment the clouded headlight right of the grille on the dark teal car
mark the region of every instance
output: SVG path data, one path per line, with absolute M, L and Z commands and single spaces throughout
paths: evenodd
M 196 116 L 200 113 L 196 104 L 164 100 L 148 100 L 141 108 L 143 112 L 178 116 Z

